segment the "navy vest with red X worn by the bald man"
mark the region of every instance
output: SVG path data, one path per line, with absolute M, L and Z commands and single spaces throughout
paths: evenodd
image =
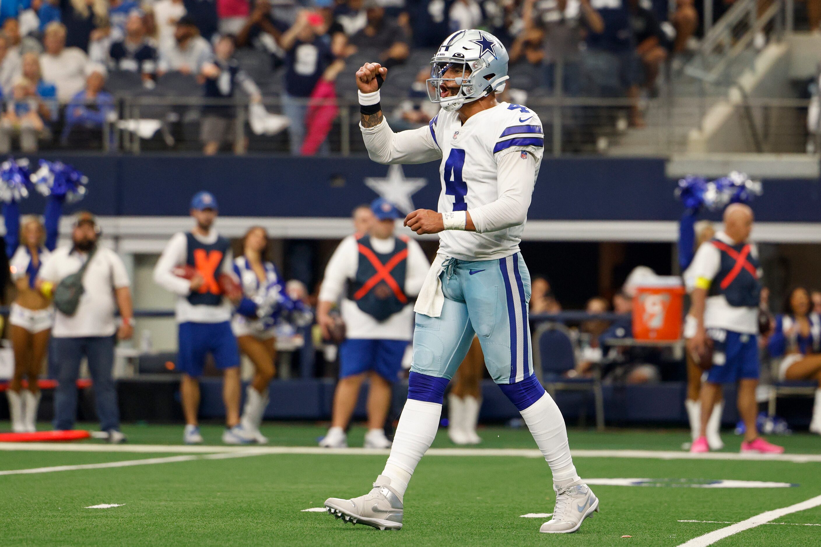
M 757 308 L 761 294 L 760 264 L 751 253 L 750 244 L 726 244 L 710 241 L 721 253 L 721 268 L 710 284 L 709 295 L 723 294 L 727 303 L 739 308 Z

